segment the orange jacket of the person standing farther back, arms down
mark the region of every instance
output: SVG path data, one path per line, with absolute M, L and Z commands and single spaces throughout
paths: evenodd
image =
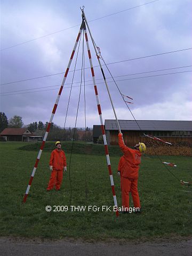
M 53 166 L 53 169 L 56 170 L 63 170 L 63 167 L 67 166 L 65 152 L 63 150 L 54 149 L 51 152 L 50 166 Z

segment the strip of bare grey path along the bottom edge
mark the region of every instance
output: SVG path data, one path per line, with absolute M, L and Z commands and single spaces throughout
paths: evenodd
M 4 256 L 124 256 L 124 255 L 174 255 L 191 256 L 192 239 L 182 242 L 145 242 L 145 243 L 84 243 L 70 240 L 48 241 L 27 240 L 22 238 L 0 238 L 0 252 Z

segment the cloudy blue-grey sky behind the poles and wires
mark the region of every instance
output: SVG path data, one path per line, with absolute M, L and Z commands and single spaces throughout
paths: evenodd
M 63 74 L 11 82 L 65 72 L 82 22 L 80 6 L 85 6 L 94 41 L 106 63 L 192 47 L 191 0 L 159 0 L 142 5 L 148 2 L 151 1 L 1 0 L 1 111 L 8 118 L 22 116 L 25 124 L 49 121 Z M 135 7 L 138 5 L 142 6 Z M 123 11 L 132 7 L 135 8 Z M 59 30 L 63 31 L 45 36 Z M 36 39 L 38 37 L 41 38 Z M 27 41 L 30 42 L 25 43 Z M 14 46 L 17 44 L 20 45 Z M 93 65 L 98 66 L 92 46 L 91 52 Z M 74 70 L 75 58 L 76 55 L 70 70 Z M 81 69 L 81 58 L 82 44 L 76 69 Z M 134 104 L 130 108 L 136 119 L 191 120 L 191 65 L 191 50 L 186 50 L 114 63 L 108 67 L 114 77 L 121 76 L 115 78 L 121 92 L 133 98 Z M 87 51 L 85 67 L 89 67 Z M 106 77 L 110 77 L 106 68 L 103 69 Z M 130 75 L 162 69 L 167 70 Z M 177 74 L 154 76 L 168 73 Z M 69 72 L 53 119 L 61 127 L 65 121 L 72 76 L 73 72 Z M 95 68 L 95 78 L 102 78 L 98 67 Z M 121 79 L 123 81 L 119 81 Z M 85 69 L 85 81 L 90 80 L 91 71 Z M 111 79 L 107 80 L 117 117 L 133 119 L 115 84 Z M 74 82 L 80 81 L 81 71 L 76 71 Z M 103 119 L 114 119 L 105 84 L 102 80 L 97 82 Z M 100 121 L 92 82 L 86 84 L 86 122 L 91 127 Z M 80 84 L 74 84 L 77 85 Z M 79 88 L 72 89 L 66 126 L 75 124 Z M 77 127 L 84 127 L 83 90 Z

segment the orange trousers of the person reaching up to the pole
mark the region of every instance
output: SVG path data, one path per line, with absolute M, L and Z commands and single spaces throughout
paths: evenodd
M 139 193 L 138 193 L 138 179 L 127 179 L 121 177 L 122 190 L 122 206 L 129 208 L 129 194 L 131 192 L 134 207 L 141 208 Z

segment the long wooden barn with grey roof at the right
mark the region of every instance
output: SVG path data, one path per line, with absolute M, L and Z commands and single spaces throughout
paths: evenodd
M 145 134 L 153 135 L 171 143 L 186 141 L 192 144 L 192 121 L 161 120 L 119 120 L 124 141 L 129 146 L 148 142 Z M 105 130 L 108 145 L 118 145 L 118 127 L 116 120 L 106 119 Z

